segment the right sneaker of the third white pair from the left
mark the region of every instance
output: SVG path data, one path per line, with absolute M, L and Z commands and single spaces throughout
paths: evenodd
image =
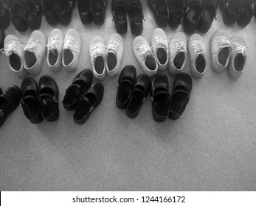
M 108 77 L 114 78 L 117 76 L 117 74 L 119 74 L 123 49 L 124 43 L 121 35 L 117 33 L 111 35 L 105 51 L 105 70 L 108 74 Z

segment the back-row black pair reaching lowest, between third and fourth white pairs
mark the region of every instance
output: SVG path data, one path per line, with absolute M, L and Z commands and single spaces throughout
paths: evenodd
M 143 30 L 143 9 L 140 0 L 113 0 L 111 4 L 113 21 L 118 33 L 127 32 L 127 13 L 131 21 L 131 32 L 141 35 Z

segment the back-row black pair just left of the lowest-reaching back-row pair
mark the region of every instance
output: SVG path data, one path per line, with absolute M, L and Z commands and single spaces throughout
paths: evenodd
M 77 7 L 80 19 L 83 24 L 100 25 L 105 21 L 105 9 L 107 0 L 77 0 Z

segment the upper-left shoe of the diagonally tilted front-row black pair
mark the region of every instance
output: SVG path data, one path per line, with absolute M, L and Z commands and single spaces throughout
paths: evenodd
M 91 86 L 92 77 L 92 71 L 88 68 L 77 74 L 72 85 L 66 89 L 66 94 L 62 102 L 66 110 L 75 110 L 80 95 Z

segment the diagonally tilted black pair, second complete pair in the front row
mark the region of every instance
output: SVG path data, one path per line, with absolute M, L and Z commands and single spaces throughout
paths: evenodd
M 103 100 L 104 87 L 100 82 L 91 85 L 92 78 L 92 71 L 84 69 L 66 89 L 62 104 L 66 110 L 75 110 L 73 119 L 76 124 L 85 123 Z

